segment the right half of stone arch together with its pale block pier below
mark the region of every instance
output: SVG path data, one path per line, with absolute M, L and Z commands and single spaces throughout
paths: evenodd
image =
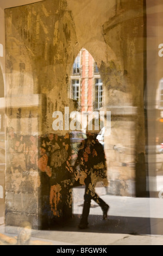
M 124 179 L 120 171 L 120 169 L 126 168 L 129 173 L 133 172 L 127 161 L 128 159 L 133 163 L 135 161 L 131 149 L 133 145 L 129 139 L 135 136 L 134 122 L 132 120 L 134 117 L 133 110 L 135 111 L 135 109 L 133 107 L 132 89 L 129 86 L 131 82 L 128 72 L 124 70 L 124 64 L 121 59 L 117 58 L 114 50 L 105 42 L 87 42 L 84 44 L 84 48 L 96 60 L 102 77 L 105 89 L 102 110 L 105 112 L 111 111 L 111 133 L 105 136 L 104 147 L 108 166 L 108 179 L 110 181 L 108 192 L 123 196 L 128 196 L 131 193 L 135 195 L 135 192 L 131 191 L 133 189 L 131 188 L 132 181 L 128 176 Z M 126 115 L 128 116 L 127 119 Z M 128 129 L 122 129 L 126 125 Z M 116 146 L 115 148 L 114 145 Z M 114 160 L 111 161 L 111 159 Z M 115 176 L 115 173 L 117 173 L 117 176 Z M 133 175 L 131 179 L 134 180 L 134 178 Z M 120 187 L 121 189 L 119 189 Z

